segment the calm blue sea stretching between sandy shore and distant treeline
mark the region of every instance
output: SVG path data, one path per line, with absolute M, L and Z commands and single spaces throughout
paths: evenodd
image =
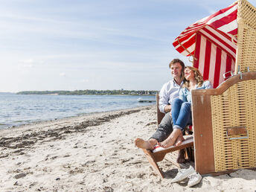
M 153 103 L 155 96 L 131 95 L 16 95 L 0 93 L 0 129 Z

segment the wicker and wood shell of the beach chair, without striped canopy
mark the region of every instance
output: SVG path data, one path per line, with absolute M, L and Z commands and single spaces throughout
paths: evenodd
M 196 171 L 256 167 L 256 8 L 237 1 L 235 74 L 217 89 L 193 90 Z

